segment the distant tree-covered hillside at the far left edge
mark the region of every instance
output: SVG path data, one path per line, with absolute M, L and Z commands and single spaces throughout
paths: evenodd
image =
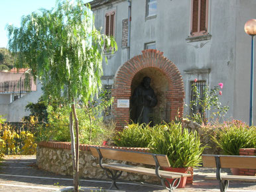
M 6 48 L 0 48 L 0 70 L 11 70 L 14 67 L 14 58 Z

